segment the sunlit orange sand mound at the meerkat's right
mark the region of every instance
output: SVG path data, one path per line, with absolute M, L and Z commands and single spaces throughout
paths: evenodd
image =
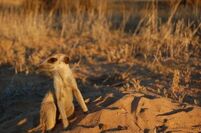
M 99 101 L 99 102 L 95 102 Z M 201 131 L 201 108 L 174 103 L 170 99 L 144 95 L 126 94 L 112 104 L 99 107 L 101 98 L 91 101 L 89 114 L 76 111 L 70 129 L 62 130 L 58 122 L 52 132 L 106 133 L 106 132 L 199 132 Z M 79 109 L 77 109 L 79 110 Z M 34 117 L 35 118 L 35 117 Z M 14 126 L 16 124 L 16 126 Z M 2 132 L 23 132 L 31 128 L 33 117 L 16 118 L 1 124 Z M 11 126 L 12 125 L 12 126 Z

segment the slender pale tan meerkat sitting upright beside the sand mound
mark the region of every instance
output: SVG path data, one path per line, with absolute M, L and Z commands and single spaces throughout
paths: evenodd
M 83 112 L 88 111 L 68 62 L 69 58 L 64 54 L 55 54 L 39 65 L 41 71 L 47 72 L 52 76 L 54 90 L 48 92 L 42 102 L 40 125 L 30 131 L 38 129 L 51 130 L 56 123 L 56 105 L 63 127 L 67 128 L 69 125 L 67 118 L 74 113 L 73 96 L 77 99 Z

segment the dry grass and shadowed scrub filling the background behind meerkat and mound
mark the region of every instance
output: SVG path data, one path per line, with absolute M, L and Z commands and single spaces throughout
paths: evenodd
M 0 65 L 20 78 L 64 53 L 84 87 L 200 106 L 200 12 L 200 0 L 0 0 Z

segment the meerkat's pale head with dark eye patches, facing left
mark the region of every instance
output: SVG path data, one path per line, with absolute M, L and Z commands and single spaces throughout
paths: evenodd
M 54 73 L 69 65 L 69 57 L 64 54 L 54 54 L 38 65 L 42 72 Z

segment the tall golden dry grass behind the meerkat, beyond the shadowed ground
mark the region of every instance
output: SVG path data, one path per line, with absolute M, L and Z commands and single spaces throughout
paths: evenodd
M 189 82 L 192 67 L 200 65 L 200 16 L 191 14 L 195 19 L 188 22 L 179 17 L 181 1 L 165 21 L 159 17 L 157 1 L 146 6 L 133 32 L 125 32 L 133 17 L 126 4 L 116 10 L 117 5 L 106 0 L 45 2 L 25 0 L 19 7 L 0 9 L 1 65 L 28 73 L 41 58 L 63 52 L 81 63 L 136 63 L 157 73 L 174 74 L 172 89 L 179 86 L 175 70 L 188 69 Z M 140 81 L 134 82 L 135 88 L 141 87 Z

